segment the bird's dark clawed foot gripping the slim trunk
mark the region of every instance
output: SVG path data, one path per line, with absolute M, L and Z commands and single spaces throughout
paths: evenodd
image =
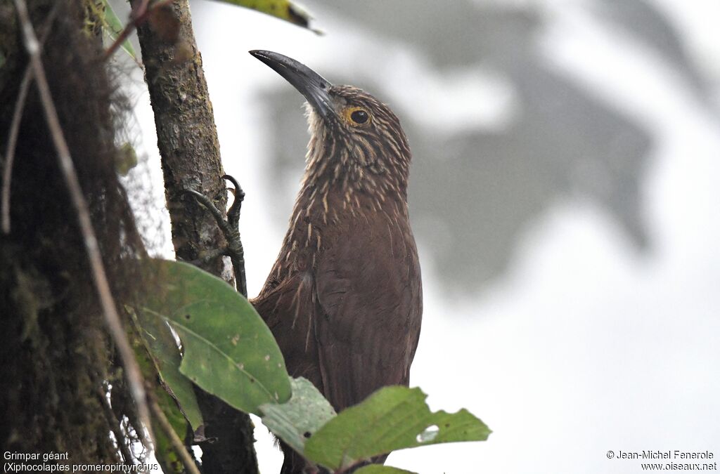
M 223 175 L 223 179 L 233 183 L 235 188 L 230 188 L 230 192 L 233 193 L 233 204 L 230 204 L 227 214 L 217 209 L 215 204 L 202 193 L 194 191 L 193 189 L 186 189 L 184 192 L 190 194 L 195 200 L 201 204 L 207 211 L 210 212 L 217 227 L 220 228 L 220 232 L 225 236 L 227 245 L 224 248 L 219 248 L 206 252 L 199 260 L 192 263 L 208 263 L 211 260 L 220 257 L 220 255 L 227 255 L 230 257 L 230 261 L 233 263 L 233 271 L 235 272 L 235 282 L 238 286 L 238 291 L 243 296 L 248 295 L 246 278 L 245 278 L 245 252 L 243 250 L 243 243 L 240 241 L 240 208 L 243 206 L 243 199 L 245 199 L 245 193 L 243 188 L 240 188 L 240 183 L 230 175 Z M 227 217 L 226 217 L 227 216 Z

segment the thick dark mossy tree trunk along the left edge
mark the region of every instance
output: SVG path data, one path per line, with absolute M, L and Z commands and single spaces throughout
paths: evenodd
M 117 181 L 114 87 L 99 62 L 95 38 L 84 32 L 82 1 L 28 2 L 42 36 L 42 54 L 60 124 L 68 142 L 112 291 L 132 291 L 120 270 L 123 255 L 143 252 Z M 48 21 L 54 12 L 53 22 Z M 0 4 L 0 150 L 4 154 L 19 83 L 27 68 L 11 1 Z M 100 393 L 122 380 L 96 298 L 77 216 L 58 168 L 42 104 L 30 89 L 12 168 L 11 224 L 0 234 L 0 451 L 67 453 L 68 463 L 115 464 Z M 4 173 L 0 158 L 0 173 Z M 122 383 L 114 383 L 120 396 Z M 114 407 L 115 408 L 115 407 Z M 132 404 L 117 407 L 119 419 Z

